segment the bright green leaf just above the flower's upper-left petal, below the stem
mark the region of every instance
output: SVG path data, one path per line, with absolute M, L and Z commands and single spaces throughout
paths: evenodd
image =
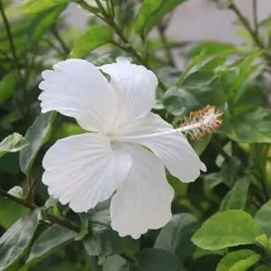
M 109 25 L 90 26 L 81 35 L 70 54 L 73 59 L 83 58 L 92 50 L 112 42 L 113 29 Z

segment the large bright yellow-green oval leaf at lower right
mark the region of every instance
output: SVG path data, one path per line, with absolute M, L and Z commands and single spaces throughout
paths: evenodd
M 258 235 L 260 229 L 251 215 L 243 210 L 228 210 L 207 219 L 192 241 L 200 248 L 215 251 L 255 243 Z

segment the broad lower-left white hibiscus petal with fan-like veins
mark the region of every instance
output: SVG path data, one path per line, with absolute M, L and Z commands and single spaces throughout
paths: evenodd
M 56 141 L 43 159 L 42 182 L 75 212 L 87 212 L 109 199 L 126 179 L 131 156 L 112 147 L 99 133 L 73 135 Z

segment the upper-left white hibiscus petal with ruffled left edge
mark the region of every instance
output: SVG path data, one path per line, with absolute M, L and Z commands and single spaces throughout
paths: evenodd
M 97 67 L 83 59 L 68 59 L 42 72 L 42 112 L 56 110 L 76 118 L 88 131 L 106 133 L 114 124 L 116 94 Z

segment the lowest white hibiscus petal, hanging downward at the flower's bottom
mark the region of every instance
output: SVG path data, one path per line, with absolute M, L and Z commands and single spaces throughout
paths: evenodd
M 148 229 L 159 229 L 171 219 L 174 190 L 167 182 L 162 162 L 138 145 L 121 144 L 131 154 L 128 179 L 112 197 L 112 229 L 119 236 L 138 239 Z

